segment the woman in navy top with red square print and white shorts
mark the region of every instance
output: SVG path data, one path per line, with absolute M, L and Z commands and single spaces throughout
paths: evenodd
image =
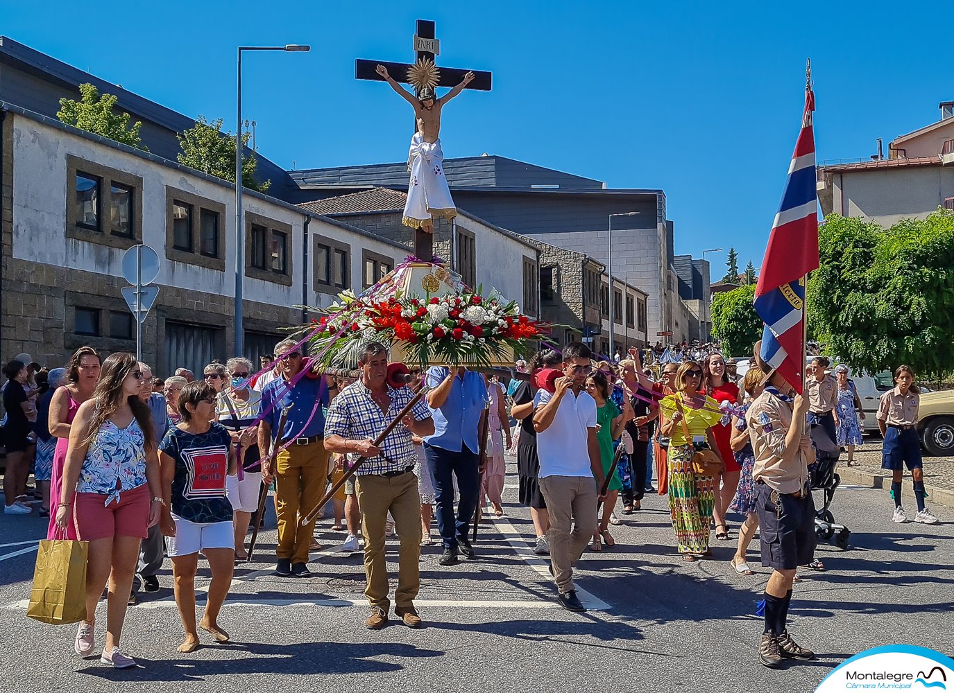
M 196 570 L 198 552 L 209 561 L 212 584 L 205 614 L 198 626 L 217 642 L 229 634 L 218 627 L 218 611 L 229 591 L 235 563 L 232 503 L 225 493 L 225 477 L 236 473 L 232 438 L 217 421 L 215 388 L 190 382 L 178 397 L 182 422 L 171 428 L 159 445 L 162 497 L 166 511 L 162 533 L 169 537 L 168 553 L 176 580 L 176 606 L 185 628 L 179 652 L 198 647 L 196 631 Z

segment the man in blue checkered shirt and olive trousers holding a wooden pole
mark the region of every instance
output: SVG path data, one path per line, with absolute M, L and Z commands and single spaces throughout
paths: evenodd
M 414 475 L 414 443 L 411 434 L 429 436 L 434 421 L 423 400 L 419 400 L 401 423 L 384 438 L 374 439 L 411 400 L 407 387 L 387 384 L 388 350 L 380 342 L 365 343 L 358 355 L 361 377 L 331 401 L 324 424 L 324 447 L 330 453 L 351 453 L 366 458 L 356 476 L 358 505 L 362 510 L 364 535 L 364 594 L 371 604 L 365 625 L 371 629 L 387 624 L 387 563 L 384 560 L 384 523 L 387 513 L 401 538 L 398 588 L 394 592 L 394 613 L 412 628 L 421 627 L 414 598 L 421 587 L 418 561 L 421 559 L 421 497 Z

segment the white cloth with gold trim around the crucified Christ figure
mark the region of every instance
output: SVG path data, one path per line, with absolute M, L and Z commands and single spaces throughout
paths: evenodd
M 444 151 L 440 139 L 433 143 L 425 142 L 421 133 L 415 132 L 411 137 L 407 169 L 411 179 L 407 186 L 407 203 L 404 205 L 404 225 L 420 229 L 426 220 L 435 216 L 452 219 L 457 215 L 444 176 Z

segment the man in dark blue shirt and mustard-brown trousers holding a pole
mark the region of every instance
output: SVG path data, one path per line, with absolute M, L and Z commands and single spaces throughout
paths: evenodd
M 280 341 L 275 346 L 281 375 L 261 392 L 261 412 L 267 414 L 259 423 L 261 480 L 275 481 L 275 510 L 279 519 L 279 543 L 276 575 L 299 578 L 311 575 L 308 570 L 308 547 L 311 545 L 315 521 L 306 526 L 299 522 L 299 511 L 311 511 L 321 500 L 328 479 L 328 453 L 324 449 L 324 411 L 328 404 L 328 386 L 314 373 L 301 375 L 306 361 L 296 342 Z M 296 381 L 297 378 L 297 381 Z M 295 384 L 292 385 L 291 383 Z M 282 408 L 291 406 L 284 428 L 278 430 Z M 276 456 L 281 445 L 291 444 Z M 268 450 L 272 452 L 268 455 Z

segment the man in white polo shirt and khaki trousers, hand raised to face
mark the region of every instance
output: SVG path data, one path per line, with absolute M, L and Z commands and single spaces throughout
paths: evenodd
M 540 491 L 550 511 L 550 572 L 559 601 L 570 611 L 586 611 L 573 589 L 573 565 L 590 542 L 603 465 L 596 441 L 596 402 L 583 389 L 592 371 L 586 344 L 563 350 L 563 377 L 555 392 L 538 390 L 533 426 L 540 459 Z M 570 523 L 573 530 L 570 532 Z

